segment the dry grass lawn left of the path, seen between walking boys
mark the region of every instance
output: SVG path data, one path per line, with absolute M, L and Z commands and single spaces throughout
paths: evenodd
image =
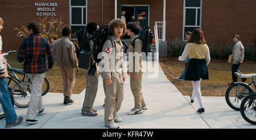
M 22 69 L 23 66 L 16 60 L 17 53 L 13 52 L 7 56 L 7 62 L 11 65 L 11 67 Z M 73 94 L 80 94 L 81 91 L 86 87 L 85 82 L 85 73 L 84 70 L 80 69 L 76 73 L 76 83 L 73 88 Z M 62 85 L 62 75 L 59 70 L 59 65 L 55 61 L 53 69 L 48 73 L 46 72 L 46 78 L 49 80 L 50 89 L 49 92 L 57 92 L 63 93 L 63 85 Z

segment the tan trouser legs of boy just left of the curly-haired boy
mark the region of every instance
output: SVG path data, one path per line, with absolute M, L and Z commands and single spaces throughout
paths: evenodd
M 94 75 L 88 75 L 88 70 L 85 70 L 86 89 L 82 111 L 90 111 L 93 108 L 93 103 L 98 90 L 98 69 Z

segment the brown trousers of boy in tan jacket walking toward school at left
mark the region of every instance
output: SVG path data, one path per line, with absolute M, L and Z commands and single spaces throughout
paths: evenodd
M 60 71 L 63 79 L 63 95 L 70 97 L 76 82 L 75 70 L 74 68 L 60 67 Z

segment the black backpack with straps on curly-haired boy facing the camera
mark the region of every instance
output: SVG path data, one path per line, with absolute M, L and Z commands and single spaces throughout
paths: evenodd
M 106 40 L 110 40 L 112 42 L 112 46 L 115 48 L 115 43 L 114 40 L 109 36 L 108 33 L 108 24 L 102 25 L 97 31 L 96 33 L 92 36 L 93 41 L 93 58 L 94 61 L 96 61 L 97 63 L 99 63 L 101 61 L 101 58 L 98 58 L 98 54 L 102 52 L 102 48 L 103 45 L 105 43 Z M 121 39 L 120 39 L 121 40 Z M 125 50 L 125 53 L 128 49 L 128 46 L 126 45 L 126 43 L 121 40 Z M 114 45 L 113 45 L 114 43 Z

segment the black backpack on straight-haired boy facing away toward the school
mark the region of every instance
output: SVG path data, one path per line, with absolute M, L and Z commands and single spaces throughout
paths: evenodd
M 151 31 L 151 29 L 149 27 L 144 27 L 141 31 L 141 35 L 139 35 L 139 37 L 135 38 L 133 40 L 133 43 L 131 45 L 133 45 L 133 48 L 135 47 L 135 40 L 140 39 L 142 40 L 142 52 L 147 53 L 151 52 L 150 48 L 151 48 L 151 44 L 152 44 L 152 40 L 153 40 L 153 32 Z

